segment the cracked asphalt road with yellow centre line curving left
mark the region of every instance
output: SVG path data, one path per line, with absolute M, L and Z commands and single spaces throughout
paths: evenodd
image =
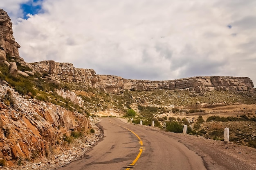
M 60 170 L 205 170 L 199 155 L 147 126 L 101 118 L 104 138 Z

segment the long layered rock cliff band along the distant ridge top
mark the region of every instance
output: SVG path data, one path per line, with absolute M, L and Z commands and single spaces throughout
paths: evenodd
M 131 80 L 112 75 L 97 75 L 92 69 L 74 68 L 71 63 L 41 61 L 30 63 L 34 70 L 47 73 L 65 82 L 84 83 L 89 87 L 119 94 L 122 90 L 151 91 L 154 89 L 185 89 L 191 92 L 230 90 L 235 92 L 253 91 L 252 80 L 248 77 L 198 76 L 168 81 Z

